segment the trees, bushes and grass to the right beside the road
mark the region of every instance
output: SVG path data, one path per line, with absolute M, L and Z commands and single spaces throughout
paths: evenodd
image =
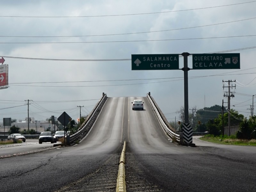
M 201 140 L 228 144 L 228 145 L 250 145 L 256 146 L 256 116 L 244 117 L 238 111 L 226 108 L 221 113 L 222 107 L 214 105 L 210 108 L 196 109 L 193 107 L 192 113 L 188 114 L 189 122 L 193 127 L 193 132 L 207 132 Z M 231 136 L 224 135 L 225 127 L 228 127 L 228 115 L 230 114 L 230 126 L 236 126 L 238 131 Z M 252 115 L 252 114 L 251 114 Z M 180 108 L 180 121 L 169 122 L 176 132 L 182 132 L 184 119 L 184 108 Z M 225 133 L 227 134 L 227 133 Z

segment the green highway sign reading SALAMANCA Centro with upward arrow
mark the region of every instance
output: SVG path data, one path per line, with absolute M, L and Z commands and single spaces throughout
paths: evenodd
M 179 54 L 132 55 L 132 70 L 179 69 Z

